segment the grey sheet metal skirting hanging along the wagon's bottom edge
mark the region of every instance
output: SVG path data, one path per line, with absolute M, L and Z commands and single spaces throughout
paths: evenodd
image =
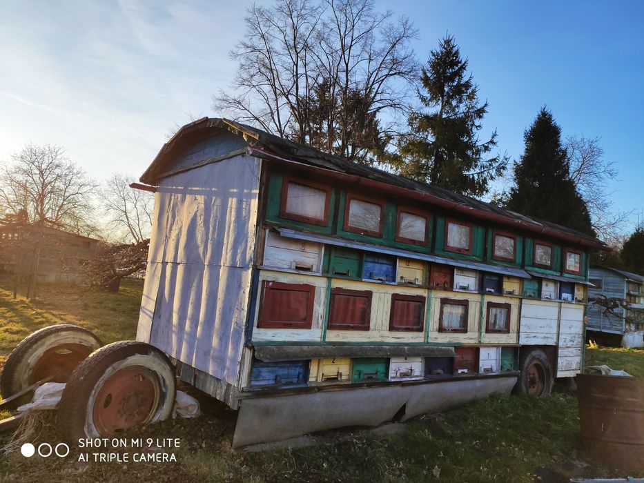
M 378 426 L 397 415 L 404 422 L 421 414 L 447 411 L 492 393 L 509 394 L 516 380 L 516 373 L 510 373 L 467 380 L 380 382 L 355 388 L 345 384 L 324 393 L 313 388 L 318 391 L 244 399 L 233 448 L 342 426 Z

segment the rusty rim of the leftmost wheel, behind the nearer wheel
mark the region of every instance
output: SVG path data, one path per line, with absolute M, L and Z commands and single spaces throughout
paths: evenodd
M 92 352 L 83 344 L 61 344 L 40 356 L 29 377 L 29 384 L 51 377 L 50 382 L 68 382 L 74 369 Z

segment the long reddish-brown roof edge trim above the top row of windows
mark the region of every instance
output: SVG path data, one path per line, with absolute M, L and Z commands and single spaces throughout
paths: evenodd
M 547 235 L 550 237 L 562 239 L 567 242 L 579 244 L 582 246 L 599 248 L 600 250 L 605 250 L 605 251 L 611 250 L 608 246 L 603 244 L 603 242 L 593 241 L 592 239 L 585 239 L 582 237 L 576 237 L 575 235 L 565 233 L 565 232 L 556 230 L 554 228 L 527 223 L 526 221 L 507 217 L 505 215 L 498 215 L 496 213 L 489 213 L 487 211 L 478 210 L 477 208 L 473 208 L 471 206 L 465 206 L 465 205 L 456 203 L 456 201 L 449 201 L 447 199 L 442 199 L 434 195 L 430 195 L 429 193 L 420 193 L 415 190 L 410 190 L 408 188 L 402 188 L 401 186 L 387 184 L 382 181 L 375 181 L 373 179 L 360 177 L 358 175 L 350 175 L 346 172 L 329 170 L 326 168 L 319 168 L 318 166 L 303 164 L 299 161 L 286 159 L 286 158 L 274 155 L 271 152 L 266 152 L 258 148 L 253 148 L 253 147 L 248 148 L 248 154 L 253 155 L 255 157 L 260 157 L 262 159 L 268 159 L 269 161 L 277 161 L 284 164 L 297 164 L 300 166 L 306 166 L 307 169 L 313 170 L 315 172 L 320 172 L 321 174 L 324 174 L 328 177 L 332 177 L 335 179 L 349 180 L 355 184 L 364 186 L 366 188 L 386 189 L 389 193 L 398 194 L 411 199 L 418 199 L 420 201 L 425 201 L 426 203 L 431 204 L 433 206 L 438 206 L 439 208 L 449 208 L 451 210 L 457 211 L 458 213 L 462 213 L 463 215 L 468 215 L 479 219 L 485 219 L 486 221 L 494 221 L 500 224 L 513 225 L 518 228 L 522 228 L 524 230 L 530 231 L 532 233 Z

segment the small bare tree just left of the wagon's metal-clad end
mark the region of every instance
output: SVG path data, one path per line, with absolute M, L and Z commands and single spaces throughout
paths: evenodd
M 150 237 L 154 195 L 135 190 L 134 177 L 116 174 L 99 191 L 108 235 L 117 242 L 139 244 Z

